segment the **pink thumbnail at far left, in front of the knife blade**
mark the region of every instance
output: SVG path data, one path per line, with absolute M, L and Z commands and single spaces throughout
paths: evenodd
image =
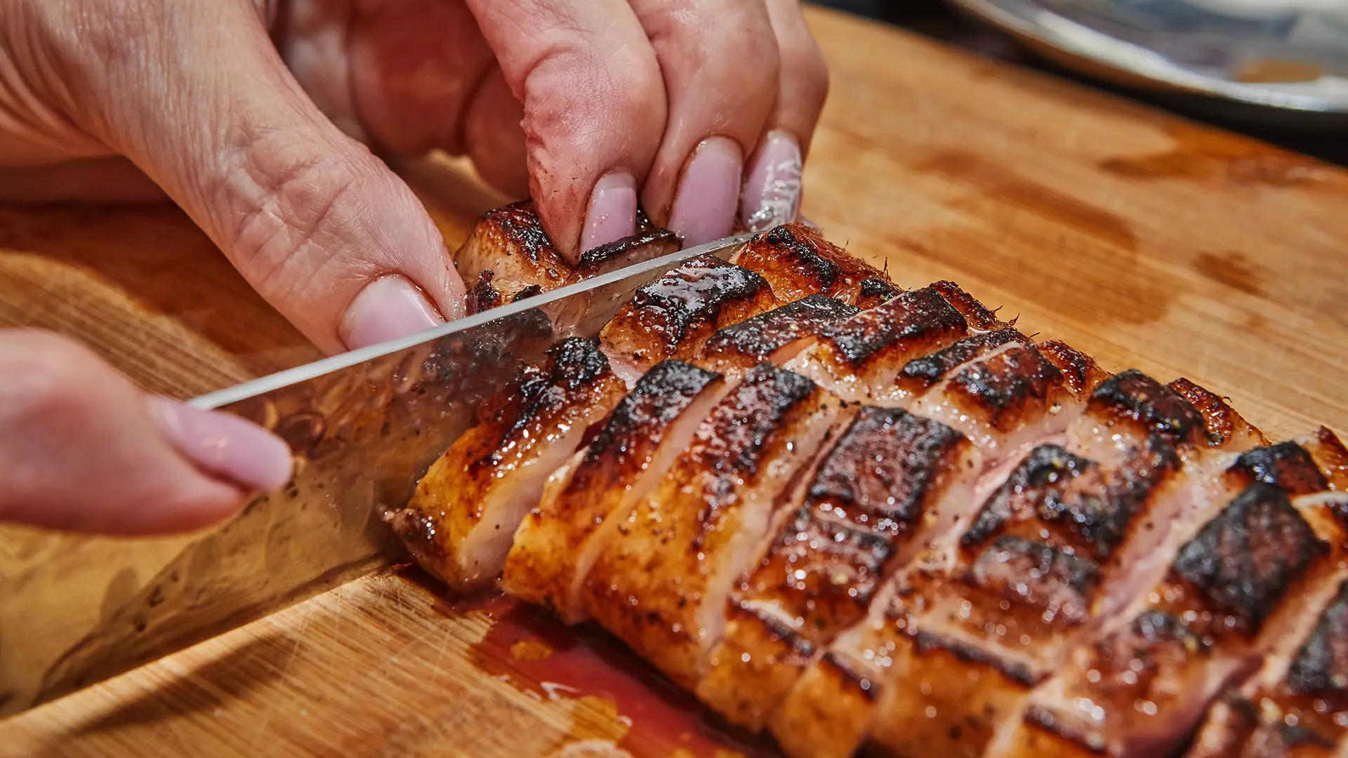
M 205 471 L 245 490 L 274 491 L 290 482 L 290 446 L 262 426 L 168 398 L 151 397 L 146 405 L 168 442 Z

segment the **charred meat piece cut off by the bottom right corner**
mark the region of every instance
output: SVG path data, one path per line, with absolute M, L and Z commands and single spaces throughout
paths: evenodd
M 1335 579 L 1302 634 L 1285 637 L 1250 681 L 1212 707 L 1186 758 L 1348 753 L 1348 569 Z

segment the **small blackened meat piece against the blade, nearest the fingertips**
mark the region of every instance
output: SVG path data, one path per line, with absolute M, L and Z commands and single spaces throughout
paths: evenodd
M 635 380 L 665 359 L 697 357 L 717 329 L 778 305 L 763 276 L 702 255 L 636 290 L 600 340 L 615 371 Z

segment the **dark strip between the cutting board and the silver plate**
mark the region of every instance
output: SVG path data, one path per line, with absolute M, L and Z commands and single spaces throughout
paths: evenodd
M 1004 34 L 987 23 L 976 20 L 972 16 L 954 9 L 945 0 L 811 1 L 818 5 L 826 5 L 882 23 L 894 24 L 915 34 L 948 42 L 980 55 L 999 58 L 1031 69 L 1038 69 L 1051 76 L 1069 78 L 1086 86 L 1113 92 L 1123 97 L 1147 103 L 1190 119 L 1255 136 L 1289 150 L 1314 155 L 1322 161 L 1337 163 L 1340 166 L 1348 166 L 1348 125 L 1345 125 L 1348 121 L 1330 125 L 1324 123 L 1289 123 L 1289 119 L 1278 117 L 1277 113 L 1262 113 L 1259 112 L 1260 109 L 1229 108 L 1223 103 L 1215 103 L 1209 98 L 1173 96 L 1119 86 L 1049 62 L 1022 47 L 1008 34 Z M 1117 3 L 1116 0 L 1120 5 L 1131 4 L 1132 7 L 1148 3 L 1151 5 L 1157 5 L 1162 0 L 1131 0 Z M 1267 0 L 1267 3 L 1260 0 L 1242 1 L 1246 7 L 1278 7 L 1279 1 L 1282 7 L 1293 4 L 1289 0 Z M 1170 4 L 1184 8 L 1194 5 L 1193 3 Z M 1320 0 L 1320 5 L 1329 5 L 1330 8 L 1337 5 L 1339 8 L 1348 11 L 1348 0 Z

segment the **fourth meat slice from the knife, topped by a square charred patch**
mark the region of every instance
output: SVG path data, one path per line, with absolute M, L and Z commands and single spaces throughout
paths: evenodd
M 890 571 L 968 519 L 977 459 L 953 429 L 863 407 L 732 593 L 698 697 L 762 728 L 816 650 L 864 618 Z

